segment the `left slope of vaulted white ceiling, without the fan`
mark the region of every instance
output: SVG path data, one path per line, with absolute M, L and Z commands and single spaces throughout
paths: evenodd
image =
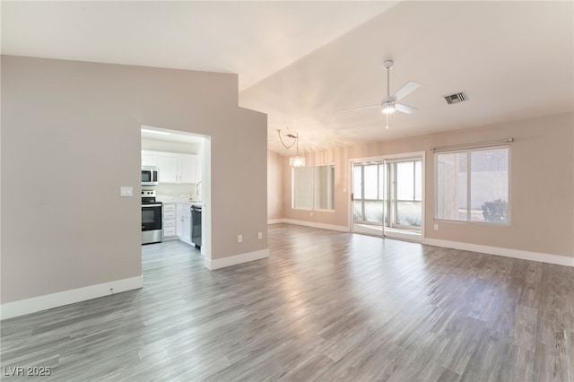
M 390 2 L 2 2 L 2 53 L 239 74 L 239 90 Z

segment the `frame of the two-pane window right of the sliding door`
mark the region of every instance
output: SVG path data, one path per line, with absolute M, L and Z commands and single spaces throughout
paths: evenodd
M 473 221 L 472 220 L 472 152 L 481 152 L 481 151 L 488 151 L 488 150 L 499 150 L 499 149 L 506 149 L 508 153 L 508 220 L 507 221 Z M 446 218 L 439 218 L 439 155 L 440 154 L 454 154 L 454 153 L 461 153 L 465 152 L 466 154 L 466 220 L 453 220 L 453 219 L 446 219 Z M 488 226 L 500 226 L 500 227 L 508 227 L 510 226 L 512 213 L 511 213 L 511 203 L 510 203 L 510 195 L 511 195 L 511 150 L 510 144 L 499 144 L 499 145 L 492 145 L 492 146 L 475 146 L 469 147 L 465 149 L 457 149 L 457 150 L 441 150 L 434 152 L 434 212 L 433 212 L 433 221 L 438 222 L 449 222 L 449 223 L 458 223 L 458 224 L 478 224 L 478 225 L 488 225 Z

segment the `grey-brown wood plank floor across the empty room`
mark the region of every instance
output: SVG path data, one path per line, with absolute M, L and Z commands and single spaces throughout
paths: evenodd
M 269 226 L 217 271 L 143 247 L 140 291 L 1 324 L 13 367 L 57 381 L 573 381 L 574 268 Z

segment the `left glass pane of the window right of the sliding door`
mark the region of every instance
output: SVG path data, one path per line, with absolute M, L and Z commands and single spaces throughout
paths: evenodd
M 466 152 L 437 154 L 438 219 L 466 221 Z

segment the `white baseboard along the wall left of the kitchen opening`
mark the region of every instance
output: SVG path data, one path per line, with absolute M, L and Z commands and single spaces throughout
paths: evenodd
M 115 282 L 104 282 L 102 284 L 91 285 L 71 291 L 60 291 L 31 299 L 7 302 L 0 305 L 0 319 L 23 316 L 39 312 L 40 310 L 62 307 L 64 305 L 74 304 L 75 302 L 109 296 L 110 288 L 113 288 L 114 294 L 116 294 L 142 287 L 143 276 L 137 276 L 130 279 L 117 280 Z

